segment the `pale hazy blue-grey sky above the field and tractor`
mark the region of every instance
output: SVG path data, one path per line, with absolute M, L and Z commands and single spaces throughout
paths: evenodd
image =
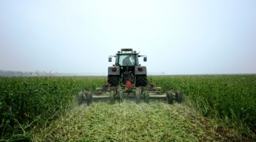
M 255 0 L 2 0 L 0 70 L 102 73 L 131 47 L 153 74 L 256 73 L 255 25 Z

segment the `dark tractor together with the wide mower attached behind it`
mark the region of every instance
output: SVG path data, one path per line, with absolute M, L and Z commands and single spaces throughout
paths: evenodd
M 139 58 L 147 61 L 147 56 L 132 49 L 121 49 L 115 56 L 109 56 L 111 62 L 115 58 L 115 65 L 108 67 L 108 83 L 95 91 L 84 90 L 78 93 L 78 103 L 87 104 L 93 102 L 123 102 L 134 100 L 135 102 L 151 102 L 161 100 L 168 104 L 182 101 L 180 91 L 170 88 L 166 93 L 161 87 L 155 87 L 154 83 L 148 83 L 147 67 L 141 66 Z

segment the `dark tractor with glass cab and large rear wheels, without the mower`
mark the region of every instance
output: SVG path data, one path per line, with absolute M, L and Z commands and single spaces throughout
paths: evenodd
M 147 61 L 147 56 L 139 55 L 132 49 L 121 49 L 116 53 L 116 56 L 109 56 L 109 62 L 112 61 L 111 57 L 115 57 L 115 65 L 108 67 L 108 83 L 110 86 L 116 87 L 118 84 L 125 86 L 127 81 L 135 87 L 147 86 L 147 67 L 141 66 L 139 58 L 144 57 L 143 60 Z

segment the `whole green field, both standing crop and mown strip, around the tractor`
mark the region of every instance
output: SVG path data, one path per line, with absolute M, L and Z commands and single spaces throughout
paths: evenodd
M 165 102 L 77 105 L 107 77 L 0 77 L 0 141 L 256 141 L 256 75 L 149 76 Z

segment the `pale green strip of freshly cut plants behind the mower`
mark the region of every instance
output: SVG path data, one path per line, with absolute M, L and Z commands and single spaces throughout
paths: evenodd
M 33 136 L 33 141 L 233 140 L 243 137 L 236 129 L 197 113 L 188 102 L 172 106 L 162 102 L 76 106 Z

